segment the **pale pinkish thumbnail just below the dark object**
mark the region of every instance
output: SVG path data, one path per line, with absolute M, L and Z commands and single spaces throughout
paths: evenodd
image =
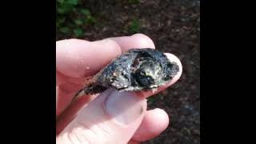
M 143 102 L 145 102 L 145 99 L 138 97 L 134 92 L 114 90 L 106 99 L 106 113 L 117 122 L 130 124 L 142 114 Z

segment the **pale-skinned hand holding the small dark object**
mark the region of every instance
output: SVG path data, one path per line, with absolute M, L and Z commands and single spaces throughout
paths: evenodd
M 82 96 L 70 105 L 74 94 L 84 86 L 87 78 L 101 70 L 111 59 L 131 48 L 154 49 L 155 46 L 144 34 L 106 38 L 95 42 L 78 39 L 56 42 L 57 144 L 137 144 L 155 138 L 166 130 L 170 123 L 166 112 L 161 109 L 146 110 L 145 100 L 172 86 L 180 78 L 182 64 L 173 54 L 165 53 L 170 61 L 178 63 L 180 71 L 170 83 L 154 92 L 129 93 L 129 97 L 123 97 L 123 101 L 115 101 L 121 97 L 115 98 L 114 90 L 106 90 L 102 94 Z M 132 101 L 129 100 L 130 95 L 134 97 Z M 124 109 L 114 110 L 111 107 L 111 102 L 122 106 L 134 101 L 134 105 Z M 119 115 L 126 116 L 125 123 L 117 121 Z

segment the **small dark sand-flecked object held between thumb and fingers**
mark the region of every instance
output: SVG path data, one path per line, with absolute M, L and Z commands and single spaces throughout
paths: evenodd
M 84 94 L 102 93 L 107 88 L 119 91 L 156 90 L 170 82 L 178 71 L 177 63 L 170 62 L 158 50 L 131 49 L 99 71 L 74 99 Z

